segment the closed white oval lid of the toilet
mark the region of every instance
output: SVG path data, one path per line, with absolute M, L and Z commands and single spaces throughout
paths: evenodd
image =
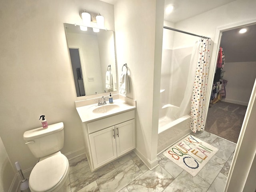
M 57 154 L 38 162 L 29 177 L 29 187 L 35 192 L 45 192 L 58 186 L 68 169 L 68 159 Z

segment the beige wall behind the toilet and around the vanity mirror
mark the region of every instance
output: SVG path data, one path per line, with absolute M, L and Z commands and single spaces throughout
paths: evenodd
M 114 30 L 114 6 L 98 0 L 1 0 L 0 6 L 0 136 L 14 163 L 30 169 L 37 159 L 24 144 L 23 133 L 64 122 L 62 153 L 83 147 L 82 127 L 74 101 L 76 90 L 64 23 L 80 24 L 79 12 L 100 12 Z

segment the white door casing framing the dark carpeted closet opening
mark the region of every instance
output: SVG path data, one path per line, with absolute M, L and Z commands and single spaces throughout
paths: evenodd
M 212 63 L 215 65 L 210 66 L 209 70 L 209 82 L 213 83 L 214 80 L 214 73 L 216 70 L 216 62 L 218 57 L 218 48 L 220 46 L 222 32 L 254 25 L 256 24 L 256 19 L 240 22 L 237 24 L 232 24 L 229 26 L 219 27 L 216 28 L 216 35 L 214 38 L 214 48 L 212 54 Z M 210 94 L 211 90 L 208 90 L 206 101 L 207 103 L 210 102 Z M 206 109 L 206 114 L 208 114 L 208 108 Z M 225 186 L 225 192 L 227 191 L 243 191 L 244 189 L 254 188 L 256 187 L 255 184 L 255 174 L 250 174 L 252 170 L 256 168 L 255 159 L 256 159 L 256 143 L 254 139 L 254 135 L 256 134 L 255 129 L 255 115 L 256 115 L 256 81 L 254 82 L 254 88 L 250 95 L 250 101 L 248 104 L 248 108 L 246 110 L 246 115 L 244 117 L 244 121 L 242 124 L 242 129 L 238 138 L 238 142 L 236 145 L 236 150 L 234 152 L 234 158 L 232 160 L 232 164 L 230 166 L 230 171 L 228 174 L 228 179 Z M 208 118 L 208 116 L 206 116 Z M 248 146 L 250 146 L 248 148 Z M 244 154 L 246 153 L 246 158 Z M 237 178 L 241 178 L 238 182 Z M 248 191 L 248 190 L 246 190 Z M 250 190 L 252 191 L 252 190 Z

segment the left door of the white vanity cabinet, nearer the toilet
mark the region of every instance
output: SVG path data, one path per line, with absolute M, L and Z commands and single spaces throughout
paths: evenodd
M 115 138 L 114 126 L 89 134 L 94 169 L 117 157 Z

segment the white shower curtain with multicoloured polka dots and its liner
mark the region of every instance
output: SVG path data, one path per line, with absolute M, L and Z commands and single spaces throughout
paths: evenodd
M 180 111 L 176 116 L 190 113 L 190 128 L 193 132 L 204 130 L 205 94 L 209 70 L 210 39 L 201 38 L 194 45 L 190 59 L 188 81 Z

